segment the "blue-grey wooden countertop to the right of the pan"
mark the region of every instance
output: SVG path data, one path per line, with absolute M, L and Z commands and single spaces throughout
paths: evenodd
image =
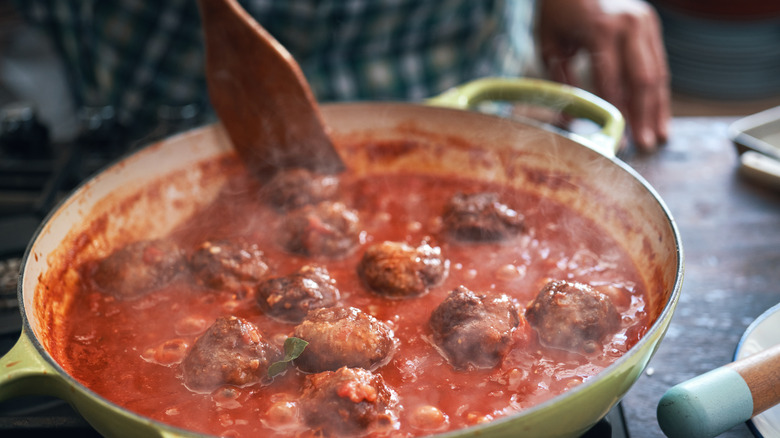
M 678 117 L 652 154 L 621 156 L 677 222 L 685 276 L 669 330 L 623 399 L 632 438 L 663 437 L 656 406 L 672 386 L 732 361 L 747 326 L 780 302 L 780 192 L 738 173 L 735 117 Z M 752 437 L 745 424 L 723 437 Z

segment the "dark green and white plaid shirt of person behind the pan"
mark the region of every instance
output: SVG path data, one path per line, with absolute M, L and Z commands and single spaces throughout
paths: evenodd
M 111 105 L 137 132 L 153 126 L 160 105 L 208 107 L 194 0 L 17 3 L 63 55 L 77 107 Z M 532 2 L 523 3 L 241 1 L 292 53 L 321 102 L 416 101 L 476 77 L 517 75 L 530 46 Z

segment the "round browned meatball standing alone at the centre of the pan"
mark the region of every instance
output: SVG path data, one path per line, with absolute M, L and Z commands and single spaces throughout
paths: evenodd
M 417 248 L 402 242 L 382 242 L 366 249 L 358 274 L 369 289 L 388 298 L 424 294 L 441 283 L 449 261 L 441 248 L 422 243 Z

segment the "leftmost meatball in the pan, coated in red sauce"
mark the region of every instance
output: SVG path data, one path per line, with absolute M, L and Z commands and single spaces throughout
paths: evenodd
M 184 253 L 169 240 L 128 244 L 95 265 L 95 286 L 118 299 L 139 298 L 168 285 L 185 270 Z

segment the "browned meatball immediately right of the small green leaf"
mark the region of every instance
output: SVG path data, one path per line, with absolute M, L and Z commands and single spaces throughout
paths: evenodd
M 354 307 L 326 307 L 309 312 L 294 336 L 309 342 L 295 359 L 298 369 L 316 373 L 341 367 L 374 370 L 395 352 L 393 331 Z

